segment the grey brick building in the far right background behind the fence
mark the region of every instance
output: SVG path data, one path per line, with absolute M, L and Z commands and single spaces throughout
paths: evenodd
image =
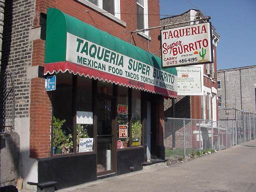
M 256 65 L 217 71 L 219 119 L 234 119 L 230 108 L 256 112 L 255 74 Z

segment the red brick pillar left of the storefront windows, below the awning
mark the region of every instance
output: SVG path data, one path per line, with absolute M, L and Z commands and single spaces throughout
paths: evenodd
M 33 158 L 50 155 L 51 103 L 44 81 L 44 78 L 31 80 L 29 148 Z

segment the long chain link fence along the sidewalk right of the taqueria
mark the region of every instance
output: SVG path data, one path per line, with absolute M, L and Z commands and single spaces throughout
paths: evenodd
M 165 118 L 165 159 L 176 160 L 202 152 L 222 150 L 254 138 L 256 118 L 255 114 L 250 115 L 246 120 L 248 123 L 242 123 L 244 126 L 240 125 L 240 120 Z

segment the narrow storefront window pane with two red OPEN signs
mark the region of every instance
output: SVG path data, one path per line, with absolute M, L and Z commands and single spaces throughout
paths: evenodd
M 128 127 L 128 88 L 118 86 L 117 89 L 117 140 L 121 141 L 121 148 L 129 147 Z

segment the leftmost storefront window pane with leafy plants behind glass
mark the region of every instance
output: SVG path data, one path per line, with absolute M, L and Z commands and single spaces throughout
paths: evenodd
M 52 152 L 73 152 L 72 135 L 72 75 L 56 74 L 56 90 L 52 92 Z

